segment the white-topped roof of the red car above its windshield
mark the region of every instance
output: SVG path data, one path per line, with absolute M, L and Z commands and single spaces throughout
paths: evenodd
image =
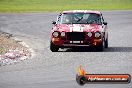
M 67 11 L 63 11 L 62 13 L 95 13 L 95 14 L 101 14 L 101 12 L 93 11 L 93 10 L 67 10 Z

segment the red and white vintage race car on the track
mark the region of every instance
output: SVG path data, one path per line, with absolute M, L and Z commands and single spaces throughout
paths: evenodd
M 59 48 L 95 47 L 103 51 L 108 47 L 107 22 L 102 13 L 91 10 L 63 11 L 51 31 L 50 50 Z

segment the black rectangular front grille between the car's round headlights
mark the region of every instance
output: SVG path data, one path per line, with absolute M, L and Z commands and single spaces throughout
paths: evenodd
M 67 39 L 71 41 L 82 41 L 85 39 L 85 32 L 67 32 Z

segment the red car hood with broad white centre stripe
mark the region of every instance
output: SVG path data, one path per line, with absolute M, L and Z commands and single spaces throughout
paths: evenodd
M 101 29 L 102 26 L 98 24 L 57 24 L 55 27 L 60 32 L 96 32 Z

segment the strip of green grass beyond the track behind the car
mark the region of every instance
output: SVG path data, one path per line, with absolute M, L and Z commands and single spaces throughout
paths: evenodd
M 0 12 L 132 10 L 132 0 L 0 0 Z

